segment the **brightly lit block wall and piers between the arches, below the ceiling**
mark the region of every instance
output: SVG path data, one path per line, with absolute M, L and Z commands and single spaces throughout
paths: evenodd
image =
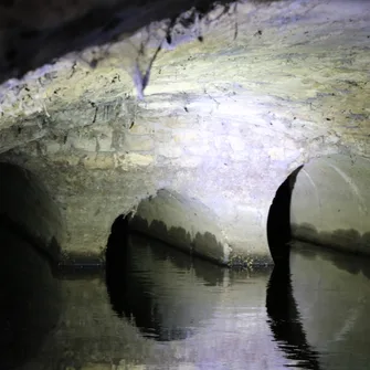
M 211 210 L 213 229 L 222 230 L 233 255 L 268 262 L 265 218 L 274 192 L 268 173 L 276 169 L 268 157 L 254 160 L 268 150 L 268 134 L 249 137 L 242 123 L 228 127 L 207 117 L 182 125 L 177 117 L 141 119 L 131 129 L 83 128 L 70 131 L 65 142 L 41 139 L 3 155 L 36 173 L 55 195 L 66 221 L 63 249 L 99 254 L 116 216 L 167 188 Z M 260 181 L 265 183 L 258 187 Z

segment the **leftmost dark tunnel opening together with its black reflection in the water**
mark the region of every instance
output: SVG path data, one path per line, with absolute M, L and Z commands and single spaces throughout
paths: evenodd
M 59 213 L 30 171 L 0 163 L 0 369 L 19 369 L 55 328 Z M 57 230 L 60 232 L 60 230 Z

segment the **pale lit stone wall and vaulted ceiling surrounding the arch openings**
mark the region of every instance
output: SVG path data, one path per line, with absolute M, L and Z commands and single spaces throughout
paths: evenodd
M 65 251 L 102 253 L 116 216 L 167 188 L 212 210 L 234 255 L 268 260 L 284 179 L 321 156 L 370 158 L 369 21 L 362 1 L 243 2 L 171 40 L 167 20 L 66 49 L 0 86 L 1 160 L 53 194 Z

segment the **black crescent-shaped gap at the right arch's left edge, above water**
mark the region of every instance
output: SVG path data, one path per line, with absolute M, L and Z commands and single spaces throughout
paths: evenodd
M 269 252 L 275 265 L 285 263 L 289 258 L 289 245 L 292 240 L 290 203 L 292 191 L 298 172 L 303 166 L 293 171 L 279 186 L 273 203 L 269 207 L 267 218 L 267 241 Z

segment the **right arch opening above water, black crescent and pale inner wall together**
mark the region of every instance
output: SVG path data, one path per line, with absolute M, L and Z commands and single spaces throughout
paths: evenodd
M 370 255 L 370 160 L 331 155 L 297 168 L 278 188 L 267 221 L 275 262 L 297 239 Z

